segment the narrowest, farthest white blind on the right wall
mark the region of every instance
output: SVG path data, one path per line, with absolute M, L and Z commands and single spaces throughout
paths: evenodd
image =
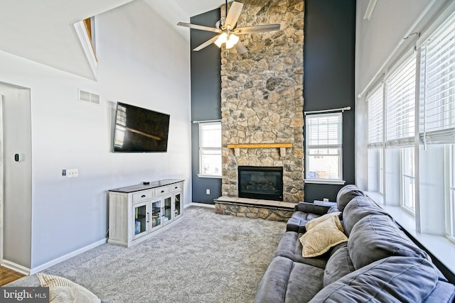
M 384 90 L 382 85 L 367 95 L 368 102 L 368 148 L 382 148 Z

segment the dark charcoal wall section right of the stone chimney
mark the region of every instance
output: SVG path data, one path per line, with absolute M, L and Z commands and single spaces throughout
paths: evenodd
M 338 109 L 343 114 L 343 179 L 354 184 L 355 0 L 306 0 L 304 111 Z M 305 184 L 305 200 L 335 201 L 343 185 Z

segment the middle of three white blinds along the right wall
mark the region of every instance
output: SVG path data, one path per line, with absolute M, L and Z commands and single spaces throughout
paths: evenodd
M 386 146 L 414 145 L 416 56 L 392 72 L 386 85 Z

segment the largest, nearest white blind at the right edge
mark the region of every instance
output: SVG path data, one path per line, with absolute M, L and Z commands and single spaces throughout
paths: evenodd
M 455 17 L 422 45 L 420 136 L 424 143 L 455 143 Z

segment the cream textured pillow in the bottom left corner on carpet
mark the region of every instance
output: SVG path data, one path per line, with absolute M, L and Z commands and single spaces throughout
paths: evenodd
M 90 292 L 90 290 L 87 290 L 85 287 L 65 279 L 64 277 L 46 275 L 42 272 L 38 272 L 36 276 L 38 277 L 38 280 L 40 280 L 42 287 L 49 287 L 49 302 L 101 302 L 101 300 Z

